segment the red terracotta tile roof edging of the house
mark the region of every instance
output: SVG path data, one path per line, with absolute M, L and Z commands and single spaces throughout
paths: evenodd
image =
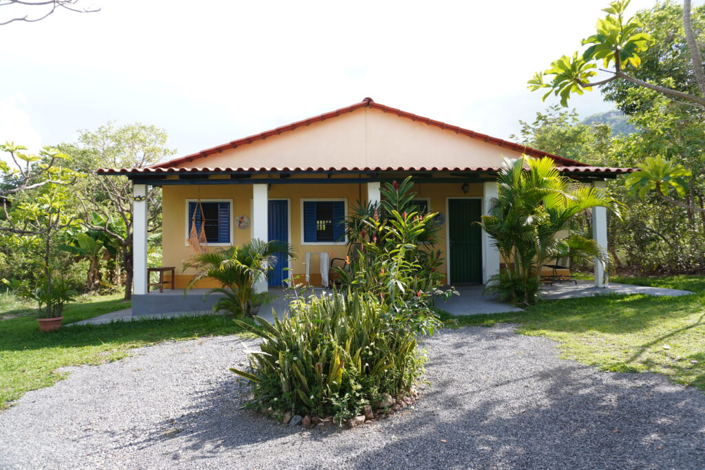
M 288 167 L 283 167 L 283 168 L 274 168 L 274 167 L 262 167 L 262 168 L 207 168 L 207 167 L 201 167 L 201 168 L 176 168 L 176 165 L 180 165 L 181 163 L 185 163 L 188 161 L 194 161 L 197 159 L 202 159 L 206 156 L 212 155 L 219 153 L 223 150 L 226 149 L 235 149 L 239 147 L 240 145 L 245 145 L 245 144 L 251 144 L 252 142 L 255 142 L 257 140 L 264 140 L 267 137 L 272 137 L 275 135 L 279 135 L 282 132 L 287 132 L 290 130 L 295 130 L 297 128 L 300 128 L 305 125 L 309 125 L 312 123 L 317 123 L 322 120 L 330 119 L 330 118 L 336 118 L 337 116 L 341 116 L 343 113 L 350 113 L 355 111 L 356 109 L 360 109 L 363 107 L 369 107 L 372 109 L 378 109 L 380 111 L 383 111 L 385 113 L 392 113 L 396 114 L 396 116 L 399 116 L 400 118 L 407 118 L 415 121 L 419 121 L 422 123 L 426 123 L 427 125 L 435 125 L 436 127 L 439 127 L 443 130 L 448 130 L 455 132 L 456 134 L 462 134 L 462 135 L 467 135 L 467 137 L 471 137 L 472 139 L 477 139 L 477 140 L 482 140 L 483 142 L 487 142 L 489 144 L 494 144 L 497 145 L 498 147 L 503 147 L 506 149 L 512 149 L 515 151 L 520 151 L 523 154 L 527 154 L 529 156 L 535 156 L 535 157 L 543 157 L 543 156 L 548 156 L 558 165 L 563 165 L 560 168 L 563 168 L 561 171 L 565 172 L 572 172 L 572 173 L 630 173 L 633 171 L 631 168 L 603 168 L 603 167 L 595 167 L 595 166 L 589 166 L 587 163 L 581 163 L 580 161 L 575 161 L 571 159 L 566 159 L 563 156 L 558 156 L 558 155 L 553 155 L 549 154 L 548 152 L 537 150 L 537 149 L 532 149 L 532 147 L 526 147 L 524 145 L 520 144 L 515 144 L 513 142 L 508 142 L 506 140 L 498 139 L 497 137 L 491 137 L 486 134 L 481 134 L 479 132 L 474 132 L 474 130 L 469 130 L 469 129 L 464 129 L 460 128 L 457 125 L 450 125 L 447 123 L 443 123 L 439 120 L 433 120 L 430 118 L 424 118 L 423 116 L 417 116 L 416 114 L 412 113 L 407 113 L 406 111 L 401 111 L 400 109 L 392 108 L 391 106 L 384 106 L 384 104 L 379 104 L 375 103 L 372 98 L 365 98 L 360 103 L 353 104 L 351 106 L 346 106 L 345 108 L 341 109 L 336 109 L 335 111 L 331 111 L 329 113 L 324 113 L 320 114 L 319 116 L 314 116 L 312 118 L 304 119 L 304 120 L 299 120 L 295 123 L 290 123 L 287 125 L 283 125 L 281 127 L 278 127 L 276 129 L 272 130 L 267 130 L 265 132 L 260 132 L 259 134 L 255 135 L 250 135 L 250 137 L 243 137 L 242 139 L 238 140 L 233 140 L 232 142 L 228 142 L 226 144 L 219 145 L 217 147 L 212 147 L 210 149 L 205 149 L 202 151 L 199 151 L 195 154 L 190 154 L 186 156 L 179 157 L 178 159 L 173 159 L 170 161 L 165 161 L 164 163 L 157 163 L 156 165 L 147 167 L 147 168 L 100 168 L 97 173 L 102 174 L 102 175 L 124 175 L 124 174 L 150 174 L 150 173 L 202 173 L 202 172 L 223 172 L 223 173 L 231 173 L 231 172 L 239 172 L 239 173 L 268 173 L 268 172 L 297 172 L 297 171 L 321 171 L 321 172 L 326 172 L 326 171 L 349 171 L 349 172 L 364 172 L 364 171 L 470 171 L 470 172 L 482 172 L 482 171 L 490 171 L 490 172 L 496 172 L 498 171 L 498 168 L 496 167 L 467 167 L 467 168 L 447 168 L 447 167 L 436 167 L 436 166 L 429 166 L 429 167 L 419 167 L 419 168 L 391 168 L 391 167 L 386 167 L 386 168 L 381 168 L 381 167 L 364 167 L 364 168 L 347 168 L 344 166 L 341 167 L 330 167 L 330 168 L 302 168 L 302 167 L 295 167 L 295 168 L 288 168 Z

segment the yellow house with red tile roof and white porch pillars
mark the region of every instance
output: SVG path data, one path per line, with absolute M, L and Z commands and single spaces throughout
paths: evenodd
M 485 283 L 499 271 L 496 248 L 472 221 L 478 221 L 496 197 L 496 173 L 503 157 L 522 154 L 548 156 L 562 173 L 596 187 L 629 171 L 588 166 L 365 98 L 148 168 L 98 173 L 127 175 L 133 181 L 133 311 L 141 314 L 157 308 L 146 300 L 148 185 L 163 189 L 164 266 L 176 267 L 177 288 L 194 274 L 181 269 L 192 254 L 186 240 L 194 211 L 203 213 L 209 247 L 239 245 L 251 238 L 293 245 L 296 258 L 280 259 L 268 285 L 260 289 L 283 285 L 288 273 L 321 285 L 330 259 L 348 253 L 338 222 L 358 201 L 379 202 L 380 184 L 409 175 L 419 204 L 441 214 L 437 248 L 444 253 L 441 271 L 446 282 L 462 285 Z M 594 209 L 593 216 L 594 237 L 606 247 L 605 209 Z M 595 278 L 601 286 L 602 273 L 596 272 Z M 173 308 L 178 306 L 161 305 L 157 310 Z

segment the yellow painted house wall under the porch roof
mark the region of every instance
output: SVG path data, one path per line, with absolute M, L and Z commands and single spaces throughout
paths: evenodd
M 482 197 L 482 184 L 468 185 L 467 194 L 462 192 L 462 183 L 417 184 L 414 187 L 417 197 L 429 198 L 430 210 L 446 214 L 446 198 L 448 197 Z M 163 192 L 163 235 L 162 251 L 163 265 L 176 267 L 176 287 L 185 287 L 195 271 L 183 271 L 183 264 L 190 256 L 192 249 L 186 244 L 190 221 L 187 222 L 186 199 L 233 199 L 233 218 L 245 215 L 252 220 L 252 185 L 166 185 Z M 367 200 L 367 184 L 295 184 L 271 185 L 269 199 L 289 199 L 290 210 L 290 243 L 294 247 L 297 259 L 290 265 L 294 276 L 300 276 L 298 282 L 303 282 L 305 273 L 305 252 L 328 252 L 333 258 L 345 258 L 348 254 L 347 245 L 302 245 L 302 200 L 303 199 L 346 199 L 348 214 L 351 213 L 357 200 Z M 439 231 L 439 242 L 435 249 L 446 251 L 446 228 L 443 224 Z M 250 240 L 250 229 L 240 230 L 237 223 L 233 225 L 234 242 L 242 245 Z M 210 249 L 220 249 L 211 247 Z M 311 283 L 321 285 L 318 256 L 312 256 Z M 446 263 L 443 262 L 439 271 L 446 274 Z M 169 278 L 170 276 L 165 276 Z M 196 287 L 216 287 L 212 282 L 200 283 Z

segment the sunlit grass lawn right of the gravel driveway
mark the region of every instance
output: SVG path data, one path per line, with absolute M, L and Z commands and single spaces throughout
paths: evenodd
M 705 276 L 613 281 L 697 293 L 548 300 L 525 312 L 454 319 L 460 326 L 520 323 L 519 333 L 558 341 L 566 359 L 606 371 L 663 373 L 705 391 Z

